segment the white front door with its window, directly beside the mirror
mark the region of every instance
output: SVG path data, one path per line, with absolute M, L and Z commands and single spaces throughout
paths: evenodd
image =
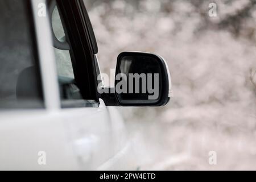
M 48 1 L 48 6 L 68 140 L 81 169 L 98 169 L 113 158 L 117 142 L 97 93 L 99 69 L 85 19 L 79 1 Z

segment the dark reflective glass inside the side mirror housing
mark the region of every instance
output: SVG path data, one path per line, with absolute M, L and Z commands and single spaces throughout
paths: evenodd
M 154 103 L 159 100 L 162 73 L 159 58 L 147 53 L 119 57 L 115 90 L 126 104 Z

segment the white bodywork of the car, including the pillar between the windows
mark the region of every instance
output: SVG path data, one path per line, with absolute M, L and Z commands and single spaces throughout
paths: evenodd
M 100 107 L 61 109 L 49 20 L 38 16 L 46 1 L 31 2 L 46 109 L 0 112 L 0 169 L 135 169 L 124 160 L 131 152 L 117 110 L 102 100 Z M 40 151 L 46 165 L 38 163 Z

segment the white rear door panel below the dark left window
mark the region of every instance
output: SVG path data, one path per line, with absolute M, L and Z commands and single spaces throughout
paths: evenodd
M 49 111 L 0 113 L 1 170 L 79 169 L 60 114 Z M 46 164 L 39 163 L 40 151 Z

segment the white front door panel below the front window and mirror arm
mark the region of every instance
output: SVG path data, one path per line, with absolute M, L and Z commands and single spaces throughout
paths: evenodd
M 111 121 L 104 102 L 95 108 L 64 109 L 61 116 L 81 169 L 96 169 L 113 156 Z

